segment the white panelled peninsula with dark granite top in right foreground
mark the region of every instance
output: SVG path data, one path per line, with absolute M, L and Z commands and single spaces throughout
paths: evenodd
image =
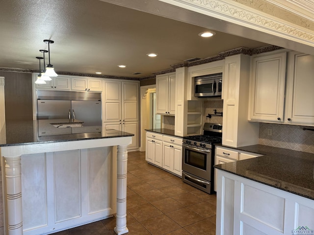
M 314 234 L 314 154 L 264 145 L 240 150 L 265 155 L 214 166 L 216 235 Z

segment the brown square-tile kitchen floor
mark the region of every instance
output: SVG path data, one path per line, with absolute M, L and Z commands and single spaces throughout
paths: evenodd
M 128 154 L 128 235 L 215 235 L 216 195 Z M 115 217 L 54 235 L 114 235 Z

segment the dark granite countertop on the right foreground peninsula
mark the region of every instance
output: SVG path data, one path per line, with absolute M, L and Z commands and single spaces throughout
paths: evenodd
M 214 167 L 314 200 L 313 153 L 260 144 L 235 149 L 264 154 L 264 156 Z

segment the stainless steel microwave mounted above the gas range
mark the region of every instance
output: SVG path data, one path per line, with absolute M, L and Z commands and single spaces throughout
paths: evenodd
M 194 96 L 221 96 L 222 72 L 194 77 Z

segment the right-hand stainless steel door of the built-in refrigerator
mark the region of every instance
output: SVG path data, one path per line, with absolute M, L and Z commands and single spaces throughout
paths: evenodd
M 72 115 L 75 119 L 83 121 L 83 126 L 102 125 L 101 101 L 72 100 L 71 106 Z

